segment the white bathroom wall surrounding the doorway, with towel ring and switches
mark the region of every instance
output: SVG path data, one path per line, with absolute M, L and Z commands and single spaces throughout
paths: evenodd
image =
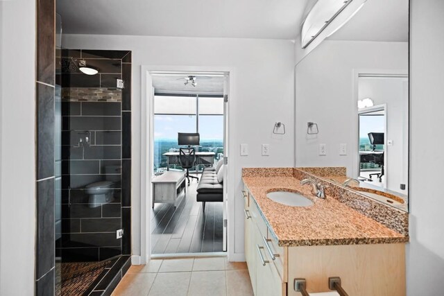
M 202 66 L 235 69 L 234 98 L 230 119 L 234 121 L 236 151 L 230 163 L 235 168 L 234 252 L 244 254 L 244 207 L 240 196 L 243 166 L 293 166 L 293 65 L 294 44 L 289 40 L 230 38 L 142 37 L 112 35 L 65 35 L 69 49 L 121 49 L 133 51 L 133 254 L 140 254 L 140 106 L 141 66 Z M 273 137 L 275 121 L 287 128 L 283 137 Z M 240 143 L 249 144 L 250 155 L 239 156 Z M 270 144 L 268 157 L 261 144 Z

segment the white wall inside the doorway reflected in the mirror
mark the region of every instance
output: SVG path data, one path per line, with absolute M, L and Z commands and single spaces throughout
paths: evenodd
M 386 104 L 387 130 L 386 141 L 393 145 L 386 146 L 385 182 L 391 191 L 407 194 L 409 191 L 400 189 L 400 184 L 407 184 L 409 162 L 409 94 L 407 78 L 359 78 L 357 100 L 372 98 L 375 105 Z M 357 104 L 357 103 L 356 103 Z M 384 128 L 382 128 L 384 130 Z M 352 147 L 350 147 L 352 148 Z M 357 149 L 357 148 L 356 148 Z

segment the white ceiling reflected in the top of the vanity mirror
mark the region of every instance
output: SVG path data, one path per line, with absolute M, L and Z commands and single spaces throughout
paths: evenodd
M 409 41 L 409 0 L 367 0 L 328 40 Z

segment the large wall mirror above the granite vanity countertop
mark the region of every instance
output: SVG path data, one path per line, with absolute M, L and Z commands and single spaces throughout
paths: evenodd
M 409 0 L 365 1 L 295 71 L 296 166 L 408 211 Z

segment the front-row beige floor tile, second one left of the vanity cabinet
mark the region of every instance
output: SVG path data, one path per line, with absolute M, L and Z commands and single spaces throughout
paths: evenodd
M 191 273 L 188 296 L 226 296 L 225 271 L 194 271 Z M 230 295 L 231 296 L 231 295 Z

